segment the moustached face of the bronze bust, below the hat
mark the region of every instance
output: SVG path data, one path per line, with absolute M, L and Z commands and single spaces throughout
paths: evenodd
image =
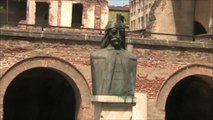
M 109 40 L 110 44 L 115 48 L 115 49 L 121 49 L 121 44 L 122 44 L 122 36 L 124 35 L 124 29 L 119 29 L 119 28 L 111 28 L 109 30 Z

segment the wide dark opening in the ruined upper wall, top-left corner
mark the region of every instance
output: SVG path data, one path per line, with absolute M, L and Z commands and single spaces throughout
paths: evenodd
M 17 25 L 26 23 L 26 0 L 1 0 L 0 23 Z

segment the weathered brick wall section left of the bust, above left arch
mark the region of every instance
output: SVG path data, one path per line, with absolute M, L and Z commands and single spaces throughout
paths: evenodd
M 54 56 L 70 62 L 90 81 L 90 52 L 93 45 L 54 40 L 19 40 L 9 38 L 1 40 L 1 69 L 7 69 L 15 63 L 34 56 Z M 97 46 L 98 47 L 98 46 Z M 87 71 L 85 71 L 85 68 Z M 89 82 L 90 83 L 90 82 Z

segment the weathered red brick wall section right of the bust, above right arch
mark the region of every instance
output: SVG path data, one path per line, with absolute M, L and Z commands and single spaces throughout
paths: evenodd
M 137 48 L 138 92 L 148 93 L 149 98 L 156 98 L 164 80 L 174 72 L 191 64 L 212 66 L 212 54 L 201 51 L 162 49 L 162 48 Z

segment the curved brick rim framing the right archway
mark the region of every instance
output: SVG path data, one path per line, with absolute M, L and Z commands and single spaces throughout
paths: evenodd
M 213 77 L 213 67 L 205 65 L 189 65 L 179 69 L 172 74 L 159 90 L 156 107 L 159 110 L 165 110 L 166 100 L 172 88 L 182 79 L 192 75 L 204 75 Z

